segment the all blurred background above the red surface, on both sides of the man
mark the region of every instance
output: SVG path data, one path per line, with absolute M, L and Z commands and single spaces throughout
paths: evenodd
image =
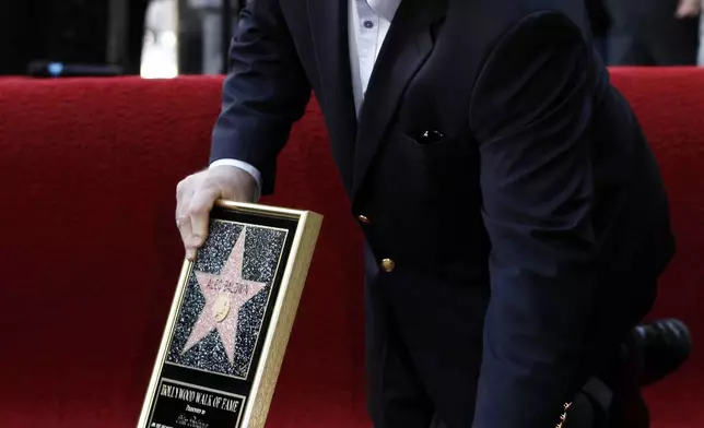
M 112 64 L 146 78 L 221 73 L 243 2 L 224 3 L 227 22 L 223 0 L 3 0 L 0 74 L 26 74 L 32 61 Z M 608 64 L 697 63 L 700 0 L 585 2 Z

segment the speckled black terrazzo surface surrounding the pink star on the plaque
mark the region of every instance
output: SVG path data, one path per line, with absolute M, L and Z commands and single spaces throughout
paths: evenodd
M 240 224 L 218 219 L 211 222 L 208 240 L 199 250 L 193 269 L 188 276 L 183 305 L 166 357 L 168 362 L 237 378 L 247 377 L 267 309 L 267 299 L 277 273 L 277 264 L 283 251 L 285 230 L 247 226 L 243 277 L 267 285 L 239 311 L 234 364 L 230 364 L 216 330 L 183 354 L 190 331 L 206 305 L 196 278 L 196 271 L 219 274 L 242 230 Z M 268 304 L 273 305 L 273 299 Z

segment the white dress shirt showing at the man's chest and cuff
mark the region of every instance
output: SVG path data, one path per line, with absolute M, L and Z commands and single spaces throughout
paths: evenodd
M 400 3 L 401 0 L 349 0 L 350 67 L 357 114 L 364 102 L 364 94 L 369 84 L 374 64 Z M 259 194 L 261 194 L 261 174 L 257 168 L 237 159 L 219 159 L 213 162 L 210 167 L 222 165 L 235 166 L 249 173 L 257 180 Z M 259 194 L 255 200 L 259 199 Z

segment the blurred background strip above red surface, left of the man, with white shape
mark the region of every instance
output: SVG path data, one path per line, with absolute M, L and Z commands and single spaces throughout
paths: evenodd
M 222 0 L 3 0 L 0 74 L 32 61 L 113 64 L 125 74 L 223 71 Z M 240 0 L 230 0 L 232 33 Z M 146 64 L 145 64 L 146 62 Z

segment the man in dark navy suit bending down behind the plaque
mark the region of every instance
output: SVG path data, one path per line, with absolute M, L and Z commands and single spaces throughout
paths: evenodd
M 211 165 L 177 189 L 187 257 L 213 201 L 273 191 L 313 90 L 366 236 L 375 426 L 548 428 L 599 402 L 674 246 L 587 26 L 583 0 L 250 2 Z

